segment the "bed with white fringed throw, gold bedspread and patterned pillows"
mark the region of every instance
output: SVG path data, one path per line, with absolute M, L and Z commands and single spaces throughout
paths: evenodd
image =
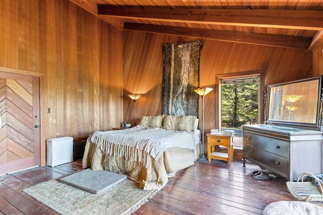
M 195 116 L 142 116 L 133 128 L 94 132 L 83 168 L 126 174 L 144 190 L 161 189 L 200 157 L 197 125 Z

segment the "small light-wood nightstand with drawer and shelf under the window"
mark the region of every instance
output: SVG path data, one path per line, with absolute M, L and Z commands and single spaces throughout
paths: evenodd
M 206 136 L 208 162 L 211 162 L 211 159 L 217 159 L 221 161 L 227 161 L 228 165 L 231 166 L 231 161 L 233 161 L 233 135 L 208 133 L 206 134 Z M 228 149 L 228 153 L 217 152 L 217 146 L 226 147 Z

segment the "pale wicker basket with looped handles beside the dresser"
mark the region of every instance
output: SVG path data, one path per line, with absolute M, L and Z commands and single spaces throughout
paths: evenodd
M 310 176 L 317 180 L 319 186 L 315 186 L 311 181 L 304 181 L 305 176 Z M 323 182 L 321 180 L 310 173 L 299 175 L 296 182 L 286 182 L 289 192 L 299 201 L 323 201 L 322 184 Z

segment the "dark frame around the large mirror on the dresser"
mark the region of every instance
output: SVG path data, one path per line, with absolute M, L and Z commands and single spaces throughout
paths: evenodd
M 311 81 L 315 81 L 318 80 L 318 86 L 317 86 L 317 92 L 310 92 L 310 93 L 315 93 L 316 94 L 316 113 L 315 113 L 315 122 L 310 123 L 310 122 L 302 122 L 302 121 L 290 121 L 290 120 L 274 120 L 274 119 L 269 119 L 269 108 L 271 107 L 271 93 L 274 89 L 278 88 L 278 87 L 284 87 L 287 85 L 291 85 L 291 84 L 297 84 L 297 83 L 303 83 L 303 82 L 311 82 Z M 310 128 L 318 128 L 318 127 L 322 127 L 322 121 L 323 121 L 323 117 L 322 117 L 322 110 L 321 110 L 321 106 L 322 106 L 322 76 L 318 76 L 318 77 L 313 77 L 313 78 L 308 78 L 308 79 L 303 79 L 303 80 L 298 80 L 298 81 L 293 81 L 293 82 L 286 82 L 286 83 L 281 83 L 281 84 L 275 84 L 275 85 L 268 85 L 267 87 L 267 92 L 265 92 L 265 113 L 264 113 L 264 120 L 265 123 L 264 124 L 270 124 L 270 125 L 289 125 L 289 126 L 294 126 L 294 127 L 306 127 L 307 129 Z M 276 99 L 276 98 L 275 98 Z M 278 97 L 278 99 L 282 99 L 283 100 L 283 96 L 282 97 Z M 291 113 L 291 111 L 290 111 Z

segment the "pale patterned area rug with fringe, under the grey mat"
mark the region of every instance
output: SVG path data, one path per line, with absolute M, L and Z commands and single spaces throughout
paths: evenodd
M 92 194 L 58 180 L 49 180 L 23 192 L 63 214 L 131 214 L 157 190 L 143 190 L 126 179 L 100 194 Z

